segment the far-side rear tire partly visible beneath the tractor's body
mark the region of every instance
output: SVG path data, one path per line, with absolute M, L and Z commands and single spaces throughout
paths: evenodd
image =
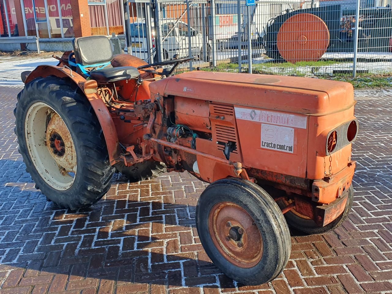
M 127 176 L 131 183 L 157 178 L 166 172 L 166 165 L 158 161 L 140 162 L 130 167 L 126 167 L 124 163 L 117 163 L 115 167 L 116 172 L 121 172 L 124 176 Z

